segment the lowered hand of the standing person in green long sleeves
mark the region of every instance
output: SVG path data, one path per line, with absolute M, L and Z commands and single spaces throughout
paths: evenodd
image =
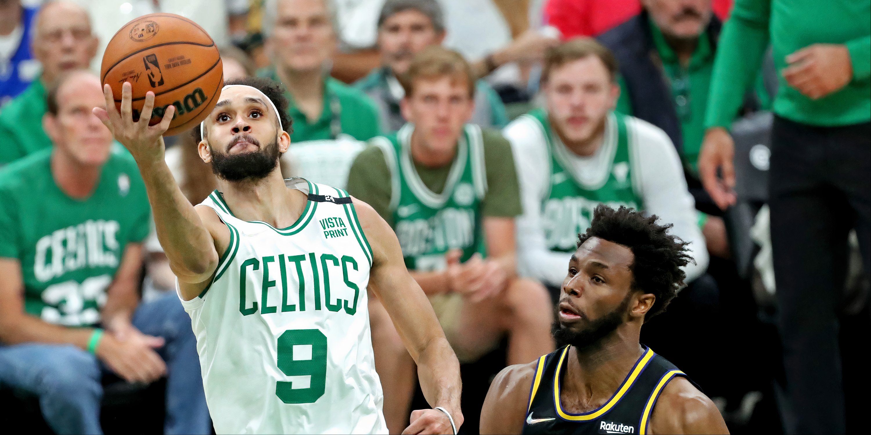
M 723 210 L 738 200 L 734 191 L 734 157 L 735 143 L 732 136 L 720 127 L 708 129 L 699 152 L 699 176 L 713 202 Z M 718 169 L 722 180 L 717 177 Z

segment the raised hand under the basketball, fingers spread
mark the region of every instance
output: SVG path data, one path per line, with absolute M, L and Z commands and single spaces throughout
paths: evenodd
M 111 87 L 103 86 L 103 97 L 106 107 L 95 107 L 93 112 L 100 121 L 111 131 L 112 136 L 123 144 L 137 162 L 155 161 L 164 159 L 163 134 L 169 129 L 172 116 L 175 115 L 175 106 L 170 104 L 159 124 L 148 125 L 154 110 L 154 92 L 149 90 L 145 94 L 145 104 L 138 121 L 133 120 L 133 87 L 130 82 L 121 86 L 121 112 L 115 109 L 115 97 L 112 96 Z

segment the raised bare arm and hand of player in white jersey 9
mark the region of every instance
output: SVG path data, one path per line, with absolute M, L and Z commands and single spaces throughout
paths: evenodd
M 188 202 L 175 182 L 164 161 L 165 144 L 162 135 L 169 128 L 175 109 L 171 105 L 160 124 L 148 125 L 154 108 L 154 93 L 145 94 L 145 105 L 138 122 L 132 117 L 132 86 L 125 83 L 121 91 L 121 111 L 115 108 L 111 88 L 103 88 L 106 107 L 94 108 L 94 115 L 103 121 L 118 142 L 123 144 L 136 159 L 139 172 L 145 180 L 148 202 L 152 204 L 154 224 L 160 245 L 169 258 L 172 271 L 182 283 L 201 283 L 211 278 L 218 266 L 218 251 L 215 237 L 229 238 L 224 225 L 217 216 L 200 218 L 197 210 Z M 202 211 L 203 215 L 208 211 Z M 214 215 L 214 212 L 212 212 Z M 214 222 L 217 221 L 217 224 Z M 226 235 L 222 231 L 226 231 Z M 213 236 L 214 235 L 214 236 Z M 226 244 L 227 242 L 225 242 Z M 186 287 L 188 287 L 186 289 Z M 182 296 L 190 299 L 196 290 L 182 286 Z M 187 290 L 187 291 L 186 291 Z M 192 293 L 192 296 L 186 293 Z

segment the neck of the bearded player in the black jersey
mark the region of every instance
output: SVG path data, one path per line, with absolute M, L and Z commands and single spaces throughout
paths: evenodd
M 593 409 L 611 398 L 644 353 L 638 333 L 618 327 L 595 346 L 571 346 L 566 358 L 567 394 Z

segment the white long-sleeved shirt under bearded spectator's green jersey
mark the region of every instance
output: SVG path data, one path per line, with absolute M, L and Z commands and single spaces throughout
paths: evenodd
M 689 242 L 696 264 L 685 266 L 686 282 L 698 278 L 707 269 L 708 254 L 705 238 L 697 224 L 695 202 L 686 188 L 678 152 L 665 131 L 635 117 L 626 117 L 627 130 L 632 131 L 635 153 L 632 177 L 638 179 L 638 195 L 643 197 L 645 214 L 657 215 L 660 222 L 674 224 L 671 234 Z M 611 131 L 611 129 L 606 129 Z M 517 177 L 520 182 L 523 216 L 517 220 L 517 267 L 526 277 L 559 286 L 568 270 L 571 253 L 550 251 L 544 236 L 542 203 L 550 191 L 550 155 L 547 144 L 534 121 L 520 117 L 505 127 L 514 151 Z M 565 146 L 558 137 L 556 146 Z M 616 140 L 605 137 L 604 144 L 591 157 L 567 152 L 577 178 L 584 184 L 604 183 L 611 172 L 613 152 L 607 144 Z M 636 173 L 638 172 L 638 173 Z

